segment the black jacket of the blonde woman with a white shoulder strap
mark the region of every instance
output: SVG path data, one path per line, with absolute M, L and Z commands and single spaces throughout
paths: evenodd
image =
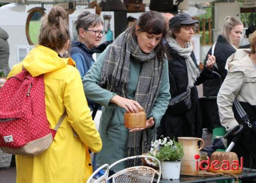
M 211 55 L 211 49 L 212 47 L 208 51 L 207 55 Z M 218 69 L 214 67 L 214 72 L 217 72 L 221 76 L 221 79 L 218 75 L 213 74 L 209 80 L 203 83 L 205 97 L 218 95 L 221 84 L 227 75 L 227 70 L 225 70 L 227 58 L 234 52 L 236 52 L 236 49 L 234 49 L 222 35 L 219 35 L 214 50 Z M 207 55 L 204 63 L 206 63 Z

